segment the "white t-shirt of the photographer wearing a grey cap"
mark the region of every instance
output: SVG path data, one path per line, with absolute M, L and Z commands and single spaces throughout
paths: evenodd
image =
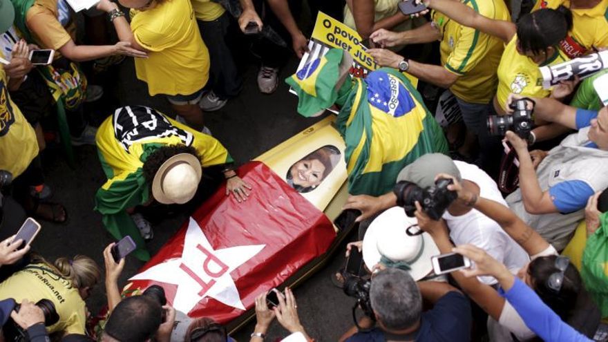
M 454 161 L 462 179 L 474 182 L 479 187 L 479 197 L 499 202 L 508 208 L 496 182 L 479 167 L 466 162 Z M 526 251 L 515 240 L 506 234 L 495 220 L 488 218 L 476 209 L 461 216 L 452 216 L 446 211 L 443 216 L 450 228 L 450 238 L 455 245 L 471 244 L 484 249 L 493 258 L 503 263 L 513 274 L 516 274 L 530 258 Z M 487 285 L 497 283 L 491 276 L 478 277 Z

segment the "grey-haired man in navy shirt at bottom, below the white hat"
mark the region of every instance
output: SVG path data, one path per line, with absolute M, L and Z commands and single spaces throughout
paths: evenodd
M 433 309 L 422 312 L 422 299 Z M 367 317 L 339 341 L 470 341 L 471 306 L 468 299 L 447 283 L 416 283 L 406 271 L 383 269 L 372 277 L 370 302 L 377 327 Z

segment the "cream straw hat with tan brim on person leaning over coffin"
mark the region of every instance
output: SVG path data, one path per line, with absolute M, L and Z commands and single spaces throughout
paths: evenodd
M 173 155 L 152 180 L 152 196 L 164 205 L 182 205 L 194 197 L 202 175 L 200 160 L 190 153 Z

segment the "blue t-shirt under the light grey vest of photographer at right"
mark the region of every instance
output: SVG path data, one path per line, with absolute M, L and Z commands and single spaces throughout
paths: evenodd
M 591 125 L 591 120 L 598 117 L 597 111 L 587 111 L 578 108 L 576 110 L 576 129 L 583 129 Z M 596 144 L 589 144 L 587 147 L 597 149 Z M 582 180 L 566 180 L 559 182 L 549 188 L 549 195 L 553 205 L 560 213 L 571 213 L 585 208 L 587 200 L 593 196 L 593 189 Z

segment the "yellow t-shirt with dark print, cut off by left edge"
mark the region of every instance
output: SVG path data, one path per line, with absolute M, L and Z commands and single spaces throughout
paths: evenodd
M 10 99 L 7 84 L 0 65 L 0 169 L 17 177 L 38 155 L 38 142 L 34 129 Z

